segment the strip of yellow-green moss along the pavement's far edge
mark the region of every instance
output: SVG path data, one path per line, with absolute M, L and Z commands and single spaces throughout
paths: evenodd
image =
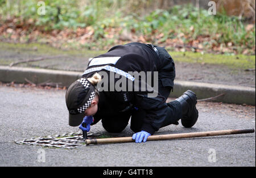
M 34 50 L 36 49 L 36 50 Z M 105 50 L 61 50 L 52 48 L 49 45 L 42 44 L 11 44 L 11 43 L 0 43 L 0 52 L 15 52 L 19 56 L 23 54 L 36 54 L 36 55 L 59 55 L 65 54 L 70 56 L 83 56 L 83 57 L 94 57 L 105 53 Z M 255 68 L 255 56 L 247 56 L 243 54 L 228 55 L 228 54 L 208 54 L 208 53 L 195 53 L 195 52 L 172 52 L 168 50 L 175 62 L 189 62 L 189 63 L 208 63 L 215 65 L 225 65 L 234 69 L 254 69 Z M 10 59 L 6 59 L 5 55 L 0 55 L 0 65 L 9 65 Z

